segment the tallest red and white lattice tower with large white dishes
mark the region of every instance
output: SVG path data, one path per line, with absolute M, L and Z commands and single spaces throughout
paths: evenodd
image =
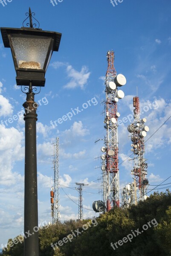
M 118 168 L 118 117 L 117 102 L 124 97 L 124 92 L 118 87 L 126 84 L 125 76 L 116 76 L 114 67 L 114 52 L 107 52 L 108 68 L 106 73 L 106 99 L 104 103 L 106 129 L 105 145 L 101 148 L 103 164 L 103 200 L 107 211 L 114 206 L 119 207 L 119 168 Z

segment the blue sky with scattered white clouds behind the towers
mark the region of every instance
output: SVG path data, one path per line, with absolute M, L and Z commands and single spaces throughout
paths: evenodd
M 133 110 L 132 98 L 140 98 L 141 117 L 147 118 L 148 137 L 171 116 L 171 3 L 159 0 L 123 0 L 113 6 L 110 0 L 63 0 L 53 6 L 50 0 L 12 0 L 0 4 L 0 26 L 20 28 L 29 6 L 43 30 L 62 33 L 59 52 L 54 52 L 46 72 L 46 84 L 35 96 L 39 101 L 37 122 L 38 212 L 39 223 L 50 221 L 50 189 L 53 148 L 60 139 L 60 183 L 64 191 L 78 203 L 75 182 L 91 183 L 84 188 L 84 207 L 101 199 L 100 160 L 103 143 L 104 76 L 106 52 L 115 51 L 115 68 L 127 79 L 125 98 L 119 101 L 120 119 Z M 10 49 L 3 47 L 0 37 L 0 122 L 22 109 L 25 95 L 17 87 Z M 70 111 L 90 105 L 71 120 L 52 127 Z M 150 105 L 151 104 L 151 105 Z M 151 106 L 151 107 L 150 107 Z M 147 108 L 149 108 L 148 111 Z M 71 110 L 72 109 L 72 110 Z M 143 109 L 145 111 L 143 111 Z M 0 244 L 23 231 L 24 188 L 24 121 L 23 117 L 8 125 L 0 125 Z M 130 156 L 127 126 L 119 125 L 119 161 Z M 147 142 L 150 184 L 159 184 L 170 175 L 171 120 Z M 120 188 L 132 181 L 131 161 L 120 167 Z M 94 182 L 93 182 L 94 181 Z M 171 182 L 167 180 L 166 183 Z M 95 193 L 95 194 L 94 194 Z M 60 190 L 61 220 L 76 219 L 78 206 Z M 84 218 L 96 215 L 84 209 Z

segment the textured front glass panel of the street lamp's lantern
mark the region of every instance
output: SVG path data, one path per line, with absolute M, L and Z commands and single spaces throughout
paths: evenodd
M 52 38 L 47 37 L 11 35 L 17 67 L 45 70 L 44 65 L 47 64 L 46 57 L 51 40 Z

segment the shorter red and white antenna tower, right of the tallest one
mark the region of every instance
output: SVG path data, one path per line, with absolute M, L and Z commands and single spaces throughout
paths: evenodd
M 133 170 L 131 170 L 131 175 L 134 176 L 136 180 L 137 189 L 137 199 L 145 200 L 147 198 L 147 163 L 144 158 L 145 145 L 144 137 L 146 137 L 146 132 L 149 131 L 148 126 L 145 125 L 146 119 L 140 118 L 139 111 L 139 97 L 133 97 L 133 110 L 134 120 L 131 125 L 128 126 L 128 131 L 131 133 L 131 151 L 133 151 Z M 135 199 L 133 198 L 133 204 L 135 204 Z

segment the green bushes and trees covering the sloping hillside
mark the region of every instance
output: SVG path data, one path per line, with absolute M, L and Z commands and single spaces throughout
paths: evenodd
M 115 208 L 93 220 L 43 227 L 39 243 L 39 256 L 171 256 L 171 192 L 154 193 L 137 207 Z M 23 256 L 23 243 L 3 255 Z

